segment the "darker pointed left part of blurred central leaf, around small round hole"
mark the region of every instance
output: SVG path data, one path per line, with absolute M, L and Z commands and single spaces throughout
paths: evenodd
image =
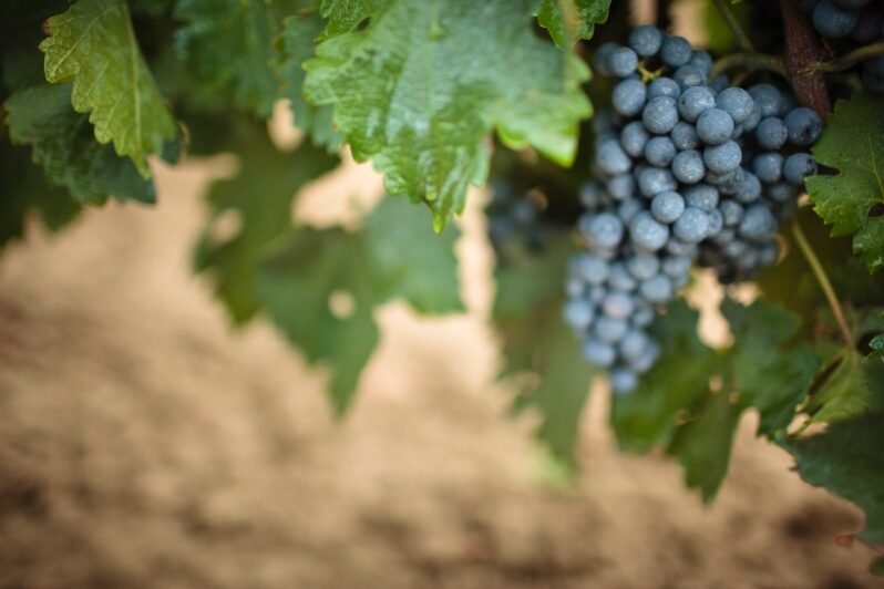
M 330 397 L 342 414 L 378 343 L 371 259 L 361 236 L 341 229 L 298 229 L 266 260 L 258 293 L 270 319 L 310 362 L 331 366 Z M 349 307 L 335 312 L 333 297 Z

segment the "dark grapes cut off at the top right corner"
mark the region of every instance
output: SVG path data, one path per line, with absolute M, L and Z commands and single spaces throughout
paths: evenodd
M 884 42 L 884 2 L 881 0 L 801 0 L 811 14 L 813 28 L 823 37 L 840 41 L 845 49 Z M 862 64 L 863 85 L 884 93 L 884 55 Z

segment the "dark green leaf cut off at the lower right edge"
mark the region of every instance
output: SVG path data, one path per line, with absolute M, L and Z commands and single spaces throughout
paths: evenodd
M 824 433 L 783 437 L 801 478 L 853 502 L 865 512 L 860 539 L 884 544 L 884 413 L 833 423 Z

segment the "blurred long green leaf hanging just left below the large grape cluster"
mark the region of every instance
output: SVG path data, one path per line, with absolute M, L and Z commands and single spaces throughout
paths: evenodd
M 515 412 L 541 415 L 537 438 L 563 465 L 575 465 L 580 415 L 595 370 L 580 355 L 577 338 L 562 319 L 567 236 L 551 239 L 542 252 L 522 252 L 496 269 L 493 320 L 503 339 L 501 378 L 524 383 Z

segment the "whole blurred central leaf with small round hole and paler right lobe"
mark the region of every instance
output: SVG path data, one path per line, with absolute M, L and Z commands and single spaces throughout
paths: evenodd
M 409 227 L 422 226 L 417 214 L 386 198 L 358 231 L 297 228 L 260 267 L 261 306 L 310 362 L 329 365 L 339 414 L 377 345 L 377 306 L 403 298 L 419 312 L 462 309 L 452 252 L 456 231 L 415 240 Z

